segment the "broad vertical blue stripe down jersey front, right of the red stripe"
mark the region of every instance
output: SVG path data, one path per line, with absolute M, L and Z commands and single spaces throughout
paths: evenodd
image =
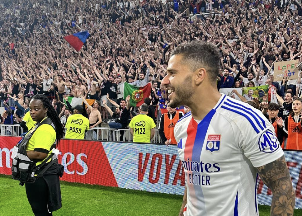
M 200 163 L 203 143 L 205 141 L 205 137 L 206 137 L 210 122 L 215 113 L 216 113 L 216 110 L 211 110 L 205 116 L 205 118 L 203 120 L 201 120 L 201 122 L 197 125 L 196 137 L 195 137 L 194 146 L 192 149 L 192 162 L 195 161 L 197 163 Z M 195 121 L 194 119 L 192 119 L 192 120 Z M 193 171 L 193 174 L 194 173 L 197 175 L 201 174 L 200 172 L 196 173 L 195 171 Z M 194 184 L 194 190 L 195 190 L 196 197 L 198 197 L 199 200 L 202 200 L 202 202 L 200 203 L 201 209 L 205 209 L 205 196 L 203 195 L 201 185 Z

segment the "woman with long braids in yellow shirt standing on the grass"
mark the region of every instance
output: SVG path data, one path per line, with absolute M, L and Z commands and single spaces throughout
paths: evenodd
M 31 161 L 36 162 L 36 166 L 42 164 L 46 158 L 50 158 L 44 165 L 47 167 L 53 160 L 53 157 L 49 156 L 52 154 L 54 143 L 58 144 L 64 137 L 65 130 L 57 112 L 45 95 L 38 94 L 33 97 L 29 112 L 32 120 L 40 126 L 36 130 L 35 127 L 30 130 L 33 134 L 26 144 L 26 154 Z M 43 121 L 50 122 L 53 126 L 42 124 Z M 43 167 L 40 170 L 43 170 Z M 35 176 L 38 174 L 39 170 L 35 172 Z M 25 183 L 27 199 L 35 216 L 52 215 L 51 212 L 62 207 L 59 180 L 59 176 L 62 175 L 62 166 L 54 162 L 42 177 L 37 178 L 33 183 Z

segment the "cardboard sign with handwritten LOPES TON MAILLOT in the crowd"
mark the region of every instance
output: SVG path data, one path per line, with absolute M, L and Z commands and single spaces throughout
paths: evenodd
M 299 60 L 274 63 L 274 81 L 282 81 L 283 77 L 287 77 L 287 80 L 298 79 L 298 64 Z

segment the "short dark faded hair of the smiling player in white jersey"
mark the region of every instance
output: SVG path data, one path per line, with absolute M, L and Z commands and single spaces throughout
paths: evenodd
M 205 68 L 209 79 L 216 82 L 221 54 L 213 43 L 194 40 L 177 46 L 171 56 L 173 55 L 182 55 L 182 61 L 192 72 L 198 68 Z

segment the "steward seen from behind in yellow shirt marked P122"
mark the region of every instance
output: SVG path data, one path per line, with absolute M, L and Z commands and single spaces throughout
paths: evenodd
M 140 115 L 134 116 L 130 121 L 130 134 L 133 135 L 133 142 L 150 143 L 155 134 L 155 123 L 153 119 L 147 116 L 148 105 L 142 104 L 139 107 Z

